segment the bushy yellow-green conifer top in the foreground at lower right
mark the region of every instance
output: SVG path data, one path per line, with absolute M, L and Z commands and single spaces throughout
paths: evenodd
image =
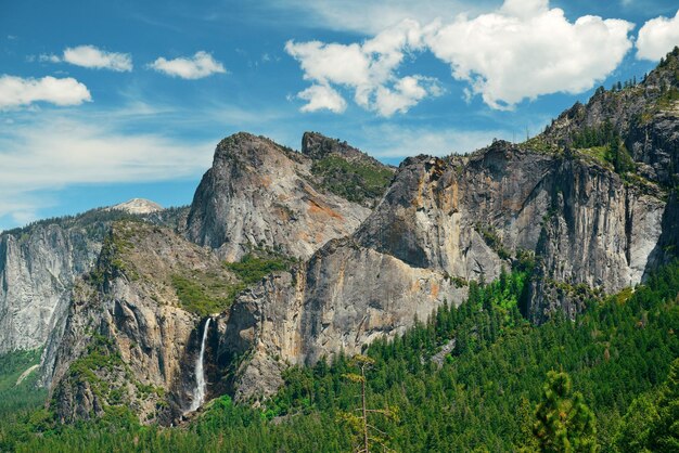
M 597 451 L 594 415 L 585 404 L 582 394 L 573 393 L 567 373 L 550 371 L 547 374 L 535 416 L 533 433 L 540 451 Z

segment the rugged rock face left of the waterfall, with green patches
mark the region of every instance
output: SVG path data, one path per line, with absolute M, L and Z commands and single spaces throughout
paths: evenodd
M 142 422 L 169 424 L 190 406 L 205 323 L 178 296 L 177 276 L 191 279 L 192 292 L 213 289 L 213 299 L 235 283 L 213 254 L 169 230 L 113 225 L 97 268 L 74 287 L 61 340 L 47 351 L 61 420 L 124 405 Z

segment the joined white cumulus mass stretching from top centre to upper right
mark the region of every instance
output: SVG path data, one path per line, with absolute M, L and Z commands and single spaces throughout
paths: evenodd
M 548 0 L 505 0 L 472 18 L 459 15 L 427 26 L 403 21 L 362 43 L 289 41 L 285 50 L 299 61 L 305 79 L 349 88 L 357 104 L 383 116 L 440 93 L 438 83 L 422 75 L 396 75 L 406 55 L 426 50 L 450 65 L 453 78 L 469 82 L 469 96 L 507 109 L 542 94 L 590 89 L 631 48 L 632 27 L 590 15 L 572 23 Z

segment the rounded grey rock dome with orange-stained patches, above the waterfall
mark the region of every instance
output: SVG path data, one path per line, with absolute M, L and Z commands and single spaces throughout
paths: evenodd
M 265 138 L 222 140 L 193 198 L 188 237 L 238 261 L 255 247 L 307 259 L 350 234 L 369 209 L 318 189 L 311 165 Z

